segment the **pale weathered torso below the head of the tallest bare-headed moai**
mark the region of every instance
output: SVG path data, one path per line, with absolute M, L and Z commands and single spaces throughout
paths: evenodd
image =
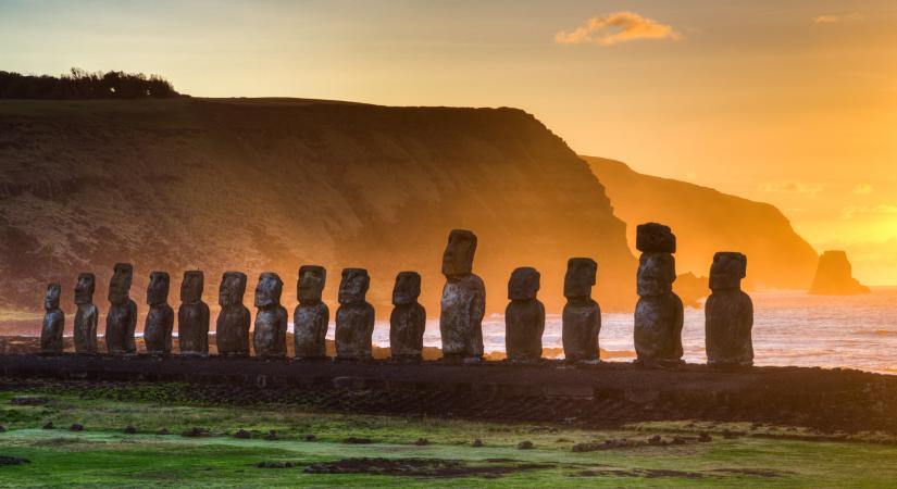
M 439 331 L 446 356 L 483 356 L 486 287 L 476 275 L 451 277 L 443 288 Z

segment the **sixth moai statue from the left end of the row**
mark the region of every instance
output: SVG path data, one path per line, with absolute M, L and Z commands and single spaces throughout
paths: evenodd
M 251 315 L 244 305 L 246 294 L 246 274 L 242 272 L 225 272 L 221 276 L 219 287 L 219 313 L 215 323 L 215 344 L 220 355 L 248 356 L 249 355 L 249 324 Z

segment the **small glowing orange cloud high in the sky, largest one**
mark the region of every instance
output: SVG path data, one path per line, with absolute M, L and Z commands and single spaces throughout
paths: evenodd
M 555 35 L 559 45 L 613 46 L 638 39 L 682 39 L 673 27 L 635 12 L 613 12 L 600 17 L 591 17 L 571 32 L 561 30 Z

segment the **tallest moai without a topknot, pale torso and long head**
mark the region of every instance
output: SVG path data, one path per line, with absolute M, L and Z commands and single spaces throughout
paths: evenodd
M 446 359 L 483 359 L 483 315 L 486 312 L 486 287 L 472 273 L 476 235 L 452 229 L 443 254 L 446 285 L 439 311 L 439 333 Z

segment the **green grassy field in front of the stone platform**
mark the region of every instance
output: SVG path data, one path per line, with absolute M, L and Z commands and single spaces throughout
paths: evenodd
M 897 447 L 872 435 L 836 442 L 772 426 L 680 422 L 583 430 L 202 406 L 178 400 L 188 390 L 0 392 L 0 486 L 886 487 L 897 479 Z M 73 424 L 83 430 L 71 430 Z M 700 441 L 702 431 L 710 441 Z M 656 436 L 655 444 L 647 441 Z M 533 448 L 520 449 L 524 441 Z M 576 452 L 577 443 L 603 449 Z

